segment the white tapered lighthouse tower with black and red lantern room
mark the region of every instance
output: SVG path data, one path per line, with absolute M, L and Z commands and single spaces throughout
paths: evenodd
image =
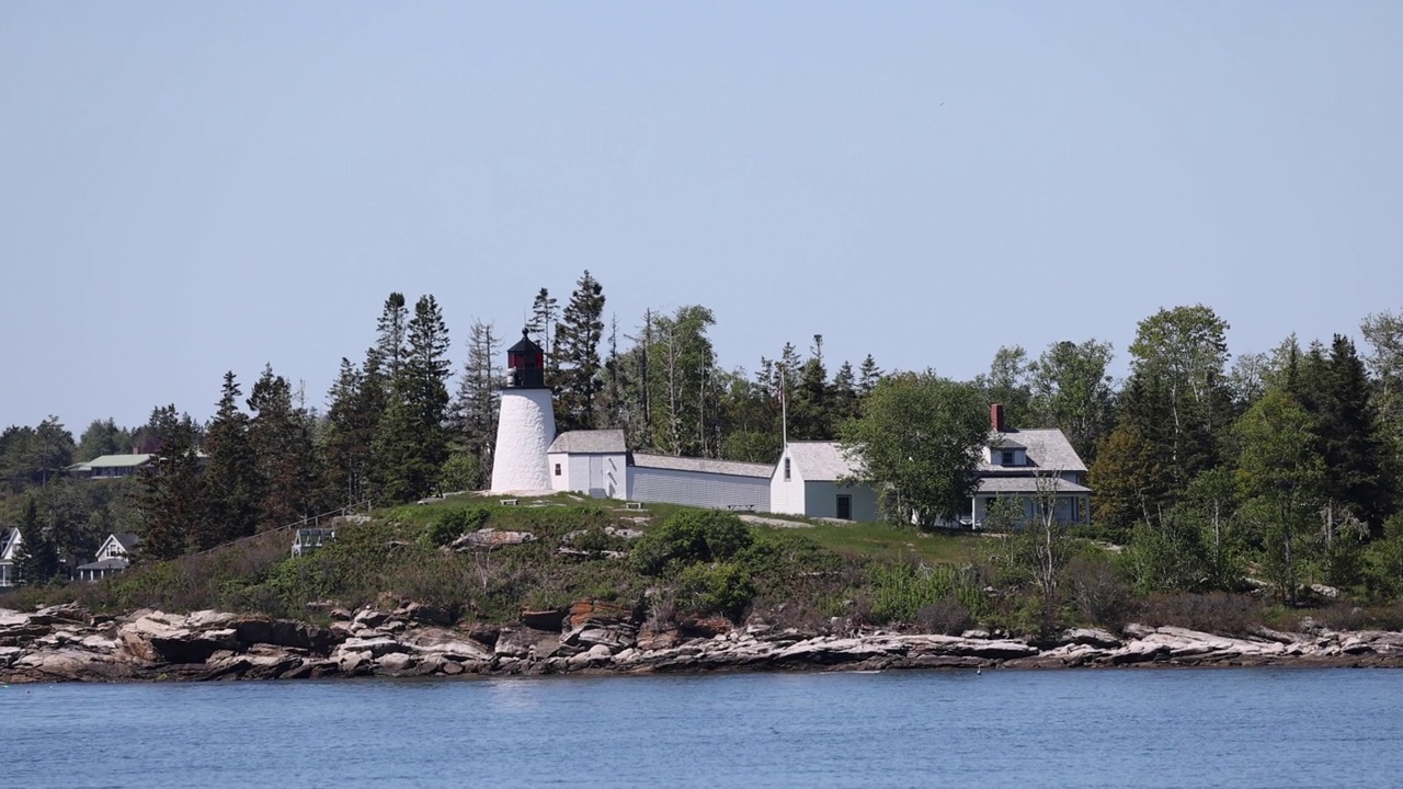
M 546 386 L 546 352 L 522 340 L 506 350 L 506 380 L 497 418 L 492 493 L 550 490 L 546 449 L 556 439 L 556 409 Z

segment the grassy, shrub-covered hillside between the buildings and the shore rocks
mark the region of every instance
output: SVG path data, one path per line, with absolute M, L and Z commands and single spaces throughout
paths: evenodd
M 334 542 L 297 559 L 289 556 L 292 535 L 271 532 L 137 564 L 98 584 L 24 588 L 0 597 L 0 606 L 76 598 L 108 614 L 216 608 L 324 621 L 334 606 L 412 599 L 464 623 L 509 623 L 522 609 L 593 598 L 658 625 L 727 616 L 826 628 L 836 618 L 932 632 L 984 626 L 1038 633 L 1118 626 L 1131 616 L 1223 632 L 1282 623 L 1281 612 L 1247 595 L 1134 599 L 1114 556 L 1089 541 L 1061 546 L 1066 562 L 1049 585 L 1033 569 L 1034 552 L 1023 538 L 929 535 L 882 524 L 793 525 L 748 525 L 731 514 L 675 505 L 627 510 L 570 496 L 516 505 L 464 496 L 342 522 Z M 477 529 L 533 539 L 450 548 Z

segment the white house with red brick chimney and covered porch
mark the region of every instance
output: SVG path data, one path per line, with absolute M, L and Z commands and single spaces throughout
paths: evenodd
M 1052 517 L 1059 522 L 1090 521 L 1086 463 L 1061 430 L 1010 428 L 1003 423 L 1003 406 L 999 404 L 989 407 L 989 444 L 979 463 L 979 490 L 961 525 L 984 525 L 989 505 L 1007 497 L 1024 518 L 1038 518 L 1045 500 L 1052 503 Z

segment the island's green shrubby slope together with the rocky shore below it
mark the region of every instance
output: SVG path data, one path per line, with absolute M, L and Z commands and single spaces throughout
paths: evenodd
M 1397 608 L 1136 597 L 1117 546 L 471 494 L 0 597 L 0 681 L 1403 667 Z M 790 528 L 777 528 L 784 524 Z M 1020 559 L 1021 557 L 1021 559 Z

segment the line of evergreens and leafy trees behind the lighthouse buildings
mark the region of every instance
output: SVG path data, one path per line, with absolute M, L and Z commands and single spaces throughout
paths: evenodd
M 769 463 L 786 432 L 909 437 L 904 417 L 892 416 L 905 394 L 894 393 L 934 386 L 925 410 L 960 416 L 933 428 L 946 438 L 982 431 L 986 417 L 971 414 L 989 403 L 1003 404 L 1010 425 L 1061 428 L 1090 466 L 1093 529 L 1131 545 L 1146 590 L 1233 588 L 1249 570 L 1291 588 L 1308 576 L 1358 587 L 1379 574 L 1371 570 L 1385 562 L 1379 546 L 1395 538 L 1403 314 L 1368 316 L 1364 354 L 1337 334 L 1305 345 L 1288 337 L 1233 358 L 1222 317 L 1179 306 L 1139 323 L 1124 380 L 1110 372 L 1114 348 L 1096 338 L 1055 341 L 1035 357 L 999 348 L 988 372 L 950 380 L 887 372 L 871 355 L 835 365 L 818 334 L 807 352 L 786 344 L 753 371 L 727 369 L 706 306 L 650 309 L 629 326 L 606 321 L 605 306 L 589 271 L 564 306 L 547 288 L 535 295 L 526 330 L 546 350 L 561 431 L 623 428 L 637 451 Z M 0 434 L 0 518 L 34 521 L 34 545 L 48 542 L 60 556 L 91 555 L 107 531 L 135 531 L 146 556 L 167 557 L 337 507 L 484 487 L 512 336 L 473 321 L 455 371 L 436 299 L 411 306 L 396 292 L 375 343 L 341 359 L 324 409 L 265 368 L 247 396 L 226 373 L 203 424 L 167 404 L 137 428 L 94 421 L 77 441 L 58 418 L 10 427 Z M 112 452 L 152 452 L 152 470 L 102 486 L 63 475 Z M 968 491 L 968 475 L 932 486 L 932 475 L 904 468 L 901 456 L 909 465 L 915 453 L 892 453 L 890 475 L 905 475 L 911 490 L 926 486 L 940 501 L 932 511 Z M 123 484 L 126 493 L 111 493 Z

